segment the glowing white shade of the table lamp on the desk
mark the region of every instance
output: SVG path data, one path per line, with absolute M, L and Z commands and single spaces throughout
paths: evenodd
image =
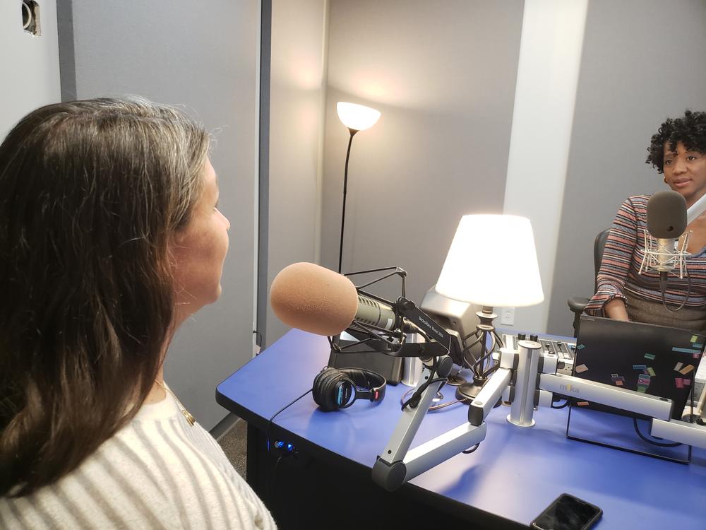
M 544 293 L 530 220 L 463 216 L 436 290 L 448 298 L 489 307 L 542 302 Z

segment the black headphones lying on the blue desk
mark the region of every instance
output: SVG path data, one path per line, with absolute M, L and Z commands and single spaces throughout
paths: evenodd
M 371 370 L 325 367 L 313 379 L 313 400 L 323 411 L 337 411 L 357 399 L 382 401 L 387 384 L 385 377 Z

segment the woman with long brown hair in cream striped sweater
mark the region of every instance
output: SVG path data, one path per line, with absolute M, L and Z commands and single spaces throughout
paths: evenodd
M 202 126 L 139 98 L 48 105 L 0 145 L 0 527 L 273 528 L 162 379 L 220 295 Z

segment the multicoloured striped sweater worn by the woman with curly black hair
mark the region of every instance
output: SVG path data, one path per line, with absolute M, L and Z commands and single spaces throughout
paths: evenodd
M 603 307 L 615 298 L 626 300 L 625 293 L 643 300 L 662 302 L 659 291 L 659 273 L 638 274 L 645 256 L 648 195 L 628 198 L 621 205 L 609 232 L 603 261 L 598 273 L 598 290 L 586 307 L 588 314 L 604 317 Z M 700 307 L 706 303 L 706 247 L 686 258 L 686 270 L 691 278 L 690 295 L 686 305 Z M 665 298 L 672 305 L 683 302 L 687 293 L 686 276 L 679 279 L 669 274 Z

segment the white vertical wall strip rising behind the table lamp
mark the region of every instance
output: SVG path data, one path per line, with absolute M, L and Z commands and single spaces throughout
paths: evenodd
M 546 332 L 587 4 L 525 1 L 503 213 L 530 218 L 544 302 L 517 308 L 515 329 Z

